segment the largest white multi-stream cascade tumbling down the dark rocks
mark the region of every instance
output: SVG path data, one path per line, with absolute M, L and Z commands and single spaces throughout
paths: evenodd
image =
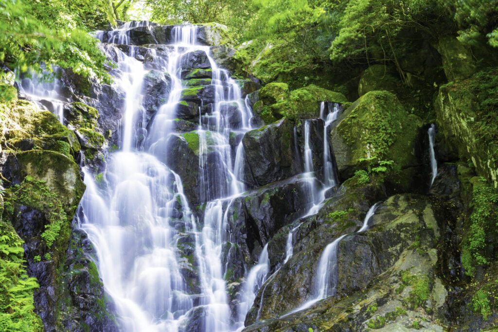
M 103 42 L 127 44 L 128 29 L 147 24 L 125 24 L 114 31 L 97 32 L 95 36 Z M 230 321 L 224 280 L 226 267 L 221 263 L 223 244 L 227 241 L 226 211 L 234 197 L 244 191 L 241 181 L 244 148 L 239 144 L 233 159 L 229 136 L 231 132 L 241 135 L 248 131 L 252 113 L 247 101 L 241 98 L 237 83 L 210 56 L 209 46 L 196 45 L 196 33 L 196 26 L 175 26 L 167 57 L 156 56 L 154 63 L 148 64 L 169 74 L 172 88 L 166 104 L 145 131 L 142 145 L 137 144 L 137 136 L 144 132 L 136 128 L 144 117 L 138 116 L 144 113 L 142 104 L 146 98 L 140 87 L 148 70 L 135 59 L 134 46 L 127 48 L 127 54 L 116 49 L 121 70 L 116 81 L 126 93 L 122 149 L 109 158 L 105 186 L 97 186 L 91 172 L 85 170 L 88 189 L 81 204 L 85 216 L 80 221 L 81 227 L 96 247 L 99 270 L 106 290 L 116 302 L 124 331 L 185 329 L 189 318 L 199 310 L 201 330 L 231 331 L 239 329 L 241 322 L 243 325 L 253 301 L 253 298 L 248 301 L 248 308 L 239 308 L 242 310 L 239 316 L 244 316 L 241 322 Z M 172 123 L 185 88 L 180 76 L 182 58 L 199 50 L 209 60 L 215 90 L 212 112 L 199 114 L 196 130 L 200 203 L 205 204 L 202 222 L 190 212 L 180 177 L 160 161 L 167 139 L 178 135 Z M 185 252 L 188 249 L 183 245 L 189 241 L 194 247 L 190 253 Z M 193 255 L 197 262 L 197 290 L 181 272 L 189 268 L 186 254 Z M 264 281 L 268 268 L 263 269 L 263 265 L 268 266 L 267 257 L 265 248 L 257 265 L 259 272 L 251 271 L 247 277 L 250 285 L 256 274 L 255 283 L 247 286 L 252 293 Z M 248 297 L 253 296 L 251 292 L 248 291 Z

